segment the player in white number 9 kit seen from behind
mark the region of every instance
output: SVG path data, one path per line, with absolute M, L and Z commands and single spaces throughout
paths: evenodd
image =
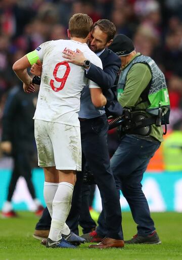
M 44 42 L 13 65 L 13 70 L 24 83 L 24 91 L 31 93 L 34 85 L 27 68 L 38 60 L 42 63 L 34 120 L 38 165 L 43 168 L 45 176 L 43 194 L 52 217 L 47 247 L 75 247 L 62 237 L 62 233 L 70 235 L 65 221 L 71 207 L 75 173 L 81 171 L 78 120 L 81 90 L 88 85 L 93 106 L 106 104 L 101 88 L 84 77 L 84 68 L 64 62 L 62 57 L 63 50 L 80 49 L 86 59 L 102 68 L 101 60 L 86 44 L 92 24 L 92 19 L 85 14 L 73 15 L 68 29 L 71 40 Z

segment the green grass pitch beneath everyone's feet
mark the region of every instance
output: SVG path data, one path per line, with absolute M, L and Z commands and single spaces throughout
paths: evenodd
M 88 243 L 77 249 L 45 248 L 32 237 L 38 218 L 30 212 L 19 212 L 17 219 L 0 219 L 1 260 L 100 260 L 100 259 L 182 259 L 182 214 L 153 213 L 152 217 L 158 235 L 159 245 L 125 245 L 117 249 L 88 248 Z M 136 225 L 130 213 L 123 213 L 125 239 L 136 233 Z

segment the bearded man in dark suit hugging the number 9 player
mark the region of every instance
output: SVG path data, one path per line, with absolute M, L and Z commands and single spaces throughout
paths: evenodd
M 116 29 L 114 24 L 105 19 L 99 20 L 93 27 L 89 47 L 102 60 L 103 70 L 86 60 L 79 50 L 77 50 L 77 53 L 74 53 L 72 50 L 69 50 L 69 53 L 64 53 L 65 58 L 68 59 L 69 62 L 83 66 L 86 77 L 95 81 L 103 89 L 103 93 L 108 100 L 105 108 L 107 115 L 121 115 L 122 113 L 121 107 L 116 101 L 114 91 L 110 89 L 113 87 L 117 73 L 121 67 L 119 57 L 107 48 L 112 43 L 115 32 Z M 84 169 L 86 162 L 90 171 L 94 174 L 96 183 L 100 189 L 108 230 L 106 239 L 100 244 L 90 245 L 90 247 L 123 247 L 120 202 L 110 168 L 110 158 L 107 146 L 108 123 L 105 110 L 98 110 L 90 107 L 90 96 L 87 92 L 87 88 L 85 88 L 82 92 L 79 112 L 82 143 L 82 169 Z M 81 174 L 78 173 L 72 199 L 72 207 L 67 219 L 68 226 L 74 232 L 78 232 L 81 186 L 82 178 Z M 43 216 L 44 215 L 46 214 L 43 214 Z M 38 237 L 37 231 L 45 231 L 45 229 L 48 229 L 48 220 L 48 216 L 40 219 L 39 223 L 36 225 L 34 236 Z M 93 223 L 93 225 L 95 226 L 95 223 Z M 44 234 L 44 237 L 45 235 L 46 234 Z M 42 236 L 40 235 L 39 237 L 43 237 L 43 233 Z

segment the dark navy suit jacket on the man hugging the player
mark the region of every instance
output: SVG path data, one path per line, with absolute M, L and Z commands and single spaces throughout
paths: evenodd
M 99 58 L 102 61 L 103 70 L 91 63 L 87 74 L 85 73 L 85 77 L 96 82 L 102 88 L 103 94 L 107 98 L 105 106 L 106 115 L 117 117 L 122 115 L 122 107 L 117 101 L 114 83 L 121 67 L 121 60 L 108 48 L 103 51 Z

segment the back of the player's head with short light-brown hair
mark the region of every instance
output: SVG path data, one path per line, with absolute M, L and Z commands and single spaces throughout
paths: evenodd
M 74 14 L 69 20 L 71 37 L 86 38 L 93 26 L 93 20 L 86 14 Z

